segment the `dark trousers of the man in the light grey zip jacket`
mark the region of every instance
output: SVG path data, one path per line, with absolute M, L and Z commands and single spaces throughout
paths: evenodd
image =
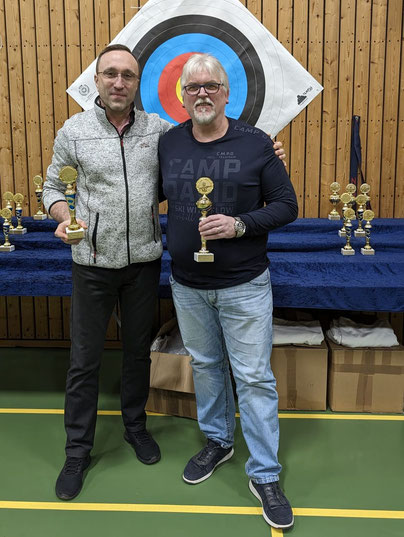
M 71 352 L 65 399 L 67 456 L 84 457 L 93 447 L 101 355 L 108 322 L 118 301 L 123 348 L 122 417 L 128 431 L 145 427 L 160 265 L 160 259 L 122 269 L 73 263 Z

